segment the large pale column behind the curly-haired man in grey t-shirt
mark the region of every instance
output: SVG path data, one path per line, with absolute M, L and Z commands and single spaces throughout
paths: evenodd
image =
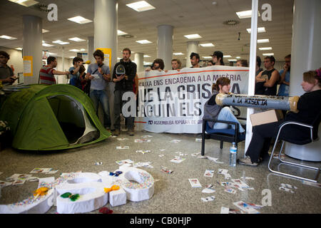
M 112 74 L 113 66 L 117 62 L 118 0 L 94 0 L 93 4 L 93 51 L 97 48 L 103 48 L 105 53 L 109 53 L 110 56 L 105 55 L 104 63 L 109 66 Z M 108 59 L 111 59 L 111 64 Z M 113 129 L 113 91 L 115 90 L 115 83 L 108 83 L 106 90 L 110 107 L 111 129 Z

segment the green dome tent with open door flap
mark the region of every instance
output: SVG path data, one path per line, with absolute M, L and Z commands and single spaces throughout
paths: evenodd
M 91 98 L 69 85 L 30 85 L 11 93 L 1 105 L 0 120 L 9 123 L 12 147 L 19 150 L 64 150 L 111 135 Z

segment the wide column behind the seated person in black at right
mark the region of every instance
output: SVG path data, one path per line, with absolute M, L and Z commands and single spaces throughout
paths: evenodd
M 321 1 L 295 0 L 291 48 L 290 96 L 302 95 L 302 74 L 320 68 Z M 321 125 L 319 133 L 321 132 Z M 301 160 L 321 161 L 321 140 L 298 146 L 286 143 L 285 154 Z

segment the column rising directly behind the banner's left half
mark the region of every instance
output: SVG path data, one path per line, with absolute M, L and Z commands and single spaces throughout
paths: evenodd
M 173 26 L 158 26 L 157 58 L 164 61 L 164 70 L 171 70 L 173 57 Z

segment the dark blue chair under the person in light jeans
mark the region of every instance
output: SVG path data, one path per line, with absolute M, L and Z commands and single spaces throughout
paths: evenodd
M 243 118 L 239 118 L 243 119 Z M 235 129 L 227 128 L 227 129 L 213 129 L 210 128 L 208 122 L 215 123 L 227 123 L 230 125 L 234 125 Z M 204 156 L 205 153 L 205 140 L 213 139 L 220 140 L 220 149 L 223 148 L 223 142 L 235 142 L 235 145 L 238 146 L 238 142 L 242 142 L 245 140 L 245 134 L 238 133 L 238 123 L 225 121 L 225 120 L 213 120 L 213 119 L 203 119 L 202 126 L 202 150 L 201 154 Z

